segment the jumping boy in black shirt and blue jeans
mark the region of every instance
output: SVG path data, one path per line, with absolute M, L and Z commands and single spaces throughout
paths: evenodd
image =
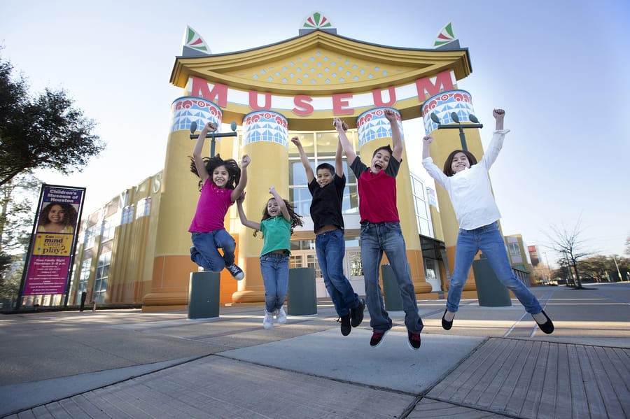
M 343 123 L 344 131 L 348 129 Z M 348 336 L 352 327 L 363 321 L 365 300 L 354 292 L 348 278 L 344 275 L 344 254 L 346 240 L 344 238 L 344 216 L 342 204 L 346 176 L 342 164 L 342 146 L 337 142 L 335 167 L 329 163 L 317 166 L 315 178 L 309 159 L 297 136 L 291 139 L 300 152 L 300 159 L 306 171 L 311 200 L 311 218 L 315 232 L 315 250 L 321 269 L 324 285 L 335 311 L 341 322 L 342 335 Z

